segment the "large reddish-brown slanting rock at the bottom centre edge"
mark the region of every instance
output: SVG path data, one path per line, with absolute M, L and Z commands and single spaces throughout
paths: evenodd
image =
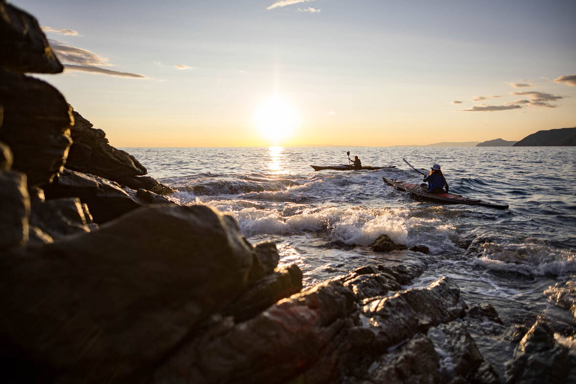
M 240 324 L 184 345 L 153 383 L 332 383 L 355 366 L 372 333 L 355 326 L 357 305 L 339 282 L 319 284 Z

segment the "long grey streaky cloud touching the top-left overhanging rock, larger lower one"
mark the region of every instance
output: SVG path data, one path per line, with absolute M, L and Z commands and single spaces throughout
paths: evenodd
M 117 77 L 131 77 L 145 79 L 146 76 L 137 73 L 120 72 L 102 67 L 111 67 L 112 64 L 108 63 L 108 58 L 95 54 L 92 51 L 85 50 L 84 48 L 73 47 L 63 43 L 62 41 L 48 40 L 52 51 L 64 67 L 70 71 L 97 73 Z

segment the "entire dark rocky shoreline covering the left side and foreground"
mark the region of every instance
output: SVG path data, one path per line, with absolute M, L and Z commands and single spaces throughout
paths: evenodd
M 448 277 L 408 287 L 415 264 L 366 265 L 302 291 L 274 244 L 170 200 L 172 188 L 25 75 L 62 66 L 35 18 L 5 0 L 0 16 L 5 382 L 576 382 L 574 351 L 544 318 L 503 324 Z M 370 248 L 406 252 L 385 235 Z M 562 302 L 574 309 L 573 295 Z M 514 350 L 509 362 L 483 357 L 483 334 Z

